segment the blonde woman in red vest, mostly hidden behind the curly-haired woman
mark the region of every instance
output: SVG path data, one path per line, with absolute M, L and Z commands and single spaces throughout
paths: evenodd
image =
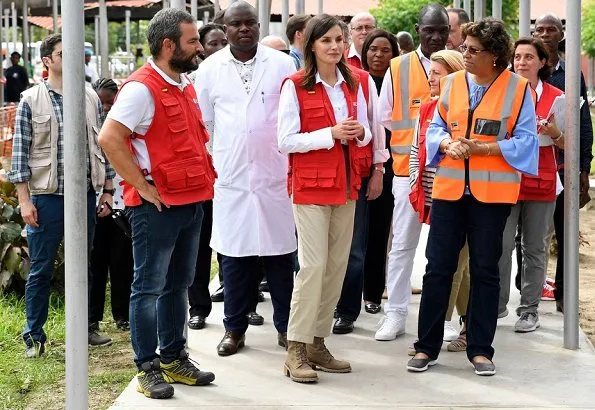
M 436 168 L 426 167 L 426 132 L 432 121 L 436 104 L 440 95 L 440 79 L 456 71 L 464 70 L 463 56 L 454 50 L 441 50 L 430 57 L 430 73 L 428 81 L 433 100 L 422 104 L 419 112 L 417 132 L 411 144 L 409 157 L 409 183 L 411 194 L 409 199 L 420 222 L 430 223 L 430 206 L 432 205 L 432 184 Z M 421 177 L 420 177 L 421 175 Z M 459 254 L 459 264 L 455 272 L 446 318 L 444 321 L 444 340 L 450 342 L 448 351 L 461 352 L 467 348 L 467 331 L 457 330 L 451 322 L 452 313 L 456 305 L 461 322 L 466 321 L 467 303 L 469 302 L 469 247 L 465 245 Z M 413 356 L 415 349 L 411 348 L 409 354 Z

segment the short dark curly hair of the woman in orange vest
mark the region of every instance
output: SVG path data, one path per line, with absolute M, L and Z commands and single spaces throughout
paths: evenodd
M 467 23 L 462 28 L 463 40 L 474 37 L 482 47 L 496 56 L 495 66 L 506 68 L 512 57 L 512 40 L 502 20 L 487 17 Z

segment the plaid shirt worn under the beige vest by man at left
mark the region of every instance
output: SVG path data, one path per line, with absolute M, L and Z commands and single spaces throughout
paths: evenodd
M 52 109 L 56 122 L 58 123 L 58 189 L 54 194 L 64 195 L 64 115 L 63 115 L 63 98 L 62 95 L 52 90 L 47 81 L 40 84 L 38 87 L 46 86 L 49 94 L 50 101 L 52 102 Z M 100 116 L 101 103 L 98 105 L 98 115 Z M 98 119 L 98 124 L 101 124 L 101 120 Z M 31 180 L 31 169 L 29 168 L 29 150 L 31 149 L 31 142 L 33 140 L 33 132 L 31 129 L 31 107 L 24 100 L 21 100 L 17 107 L 15 117 L 15 129 L 12 141 L 12 167 L 8 173 L 8 179 L 13 184 L 25 183 Z M 86 135 L 85 135 L 86 137 Z M 87 155 L 87 185 L 91 185 L 91 172 L 90 172 L 90 161 L 89 161 L 89 146 L 85 144 Z M 109 162 L 105 161 L 105 179 L 113 179 L 116 173 Z

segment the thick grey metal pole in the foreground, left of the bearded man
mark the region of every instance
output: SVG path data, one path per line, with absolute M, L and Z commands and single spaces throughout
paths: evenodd
M 88 408 L 87 135 L 83 2 L 65 0 L 64 50 L 64 259 L 66 293 L 66 409 Z

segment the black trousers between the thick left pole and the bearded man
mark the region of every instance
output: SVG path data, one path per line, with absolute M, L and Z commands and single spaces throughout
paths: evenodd
M 91 292 L 89 323 L 103 320 L 107 278 L 111 283 L 111 304 L 114 320 L 128 320 L 134 261 L 132 241 L 107 216 L 97 218 L 91 251 Z

